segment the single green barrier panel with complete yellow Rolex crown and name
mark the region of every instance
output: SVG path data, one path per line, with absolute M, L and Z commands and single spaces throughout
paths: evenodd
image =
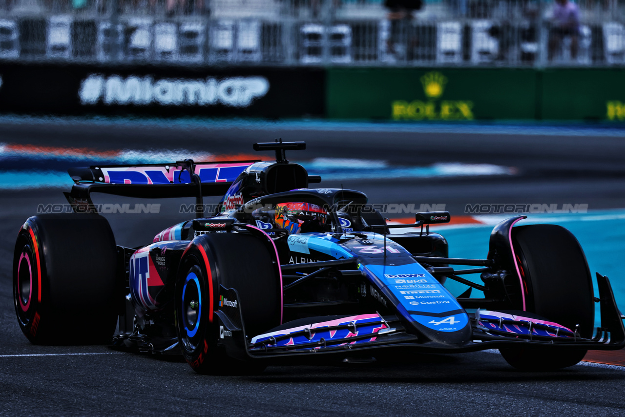
M 332 68 L 329 118 L 394 120 L 532 119 L 531 69 Z

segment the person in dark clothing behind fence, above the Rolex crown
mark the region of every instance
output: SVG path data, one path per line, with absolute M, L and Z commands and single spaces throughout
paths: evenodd
M 387 52 L 397 57 L 397 45 L 401 44 L 406 48 L 406 56 L 412 54 L 412 49 L 418 40 L 410 32 L 412 13 L 421 10 L 422 0 L 384 0 L 384 7 L 388 9 L 387 18 L 391 22 L 391 33 L 386 41 Z

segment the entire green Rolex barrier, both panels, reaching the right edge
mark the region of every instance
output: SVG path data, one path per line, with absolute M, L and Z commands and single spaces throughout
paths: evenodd
M 336 119 L 625 121 L 625 69 L 331 68 Z

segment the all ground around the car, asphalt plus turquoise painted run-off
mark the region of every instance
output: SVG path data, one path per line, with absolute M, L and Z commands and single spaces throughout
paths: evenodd
M 62 191 L 72 184 L 69 166 L 271 159 L 272 153 L 254 153 L 252 143 L 275 138 L 306 141 L 306 151 L 287 153 L 287 158 L 321 175 L 319 186 L 357 189 L 370 203 L 400 207 L 385 214 L 391 222 L 407 223 L 414 214 L 406 211 L 419 208 L 450 211 L 452 223 L 431 230 L 445 236 L 453 257 L 484 258 L 494 224 L 514 215 L 471 213 L 476 205 L 540 206 L 527 213 L 523 224 L 552 223 L 571 230 L 591 272 L 611 279 L 617 303 L 625 309 L 623 129 L 6 116 L 0 118 L 0 415 L 625 412 L 625 368 L 613 366 L 625 360 L 620 353 L 597 359 L 591 352 L 586 359 L 607 364 L 584 362 L 549 373 L 518 372 L 497 351 L 485 351 L 406 354 L 356 366 L 270 366 L 256 376 L 224 377 L 200 376 L 180 361 L 119 353 L 106 346 L 28 343 L 12 301 L 14 239 L 39 206 L 65 203 Z M 146 201 L 106 197 L 100 203 L 134 207 Z M 112 210 L 104 215 L 118 244 L 139 246 L 189 218 L 180 213 L 183 203 L 188 202 L 159 201 L 158 213 Z M 480 281 L 479 276 L 472 279 Z M 459 295 L 466 286 L 451 283 L 449 289 Z

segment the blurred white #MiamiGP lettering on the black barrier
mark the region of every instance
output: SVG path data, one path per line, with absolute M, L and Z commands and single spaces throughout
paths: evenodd
M 81 104 L 147 106 L 225 106 L 247 107 L 269 91 L 264 77 L 227 77 L 222 79 L 159 79 L 151 76 L 89 74 L 81 83 Z

